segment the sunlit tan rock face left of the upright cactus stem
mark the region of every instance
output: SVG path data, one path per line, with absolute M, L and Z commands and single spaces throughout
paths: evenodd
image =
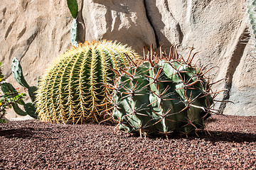
M 0 62 L 7 81 L 23 90 L 11 75 L 11 60 L 16 57 L 28 84 L 36 86 L 47 64 L 70 47 L 71 21 L 66 1 L 2 0 Z M 17 116 L 8 112 L 6 118 Z

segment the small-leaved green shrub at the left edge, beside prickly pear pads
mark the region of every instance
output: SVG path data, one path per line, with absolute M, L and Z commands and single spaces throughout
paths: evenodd
M 0 123 L 6 123 L 6 120 L 4 120 L 6 109 L 12 108 L 12 106 L 16 106 L 17 103 L 23 104 L 22 98 L 24 98 L 26 94 L 20 93 L 17 89 L 14 89 L 14 87 L 11 86 L 11 84 L 5 82 L 4 75 L 1 72 L 1 62 L 0 85 L 2 91 L 2 93 L 0 94 Z

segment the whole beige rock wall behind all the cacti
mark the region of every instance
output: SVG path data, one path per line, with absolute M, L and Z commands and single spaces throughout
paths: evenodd
M 10 77 L 13 57 L 21 60 L 29 84 L 36 84 L 48 62 L 70 47 L 72 17 L 66 1 L 3 0 L 0 7 L 1 61 Z M 78 40 L 118 40 L 142 54 L 143 47 L 170 47 L 186 57 L 188 47 L 200 51 L 196 60 L 218 66 L 215 89 L 224 114 L 256 115 L 256 64 L 247 32 L 245 0 L 80 0 Z M 195 61 L 196 61 L 195 60 Z M 14 82 L 15 84 L 15 82 Z M 18 86 L 18 84 L 16 84 Z M 13 116 L 13 115 L 12 115 Z

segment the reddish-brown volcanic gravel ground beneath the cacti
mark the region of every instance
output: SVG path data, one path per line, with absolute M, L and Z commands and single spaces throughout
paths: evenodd
M 0 169 L 256 169 L 256 116 L 213 115 L 208 132 L 146 137 L 110 125 L 0 124 Z

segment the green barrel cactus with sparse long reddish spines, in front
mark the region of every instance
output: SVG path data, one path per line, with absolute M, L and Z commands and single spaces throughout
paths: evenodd
M 144 60 L 120 69 L 114 86 L 107 85 L 114 89 L 112 117 L 119 130 L 168 137 L 203 128 L 215 95 L 204 76 L 208 70 L 192 65 L 193 57 L 190 53 L 184 60 L 174 48 L 159 57 L 151 51 Z

